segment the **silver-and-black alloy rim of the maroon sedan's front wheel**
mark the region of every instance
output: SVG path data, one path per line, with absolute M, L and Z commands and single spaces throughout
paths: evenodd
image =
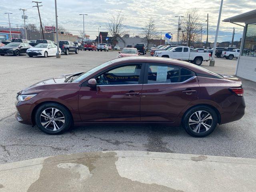
M 42 126 L 50 131 L 60 130 L 65 124 L 64 114 L 56 108 L 47 108 L 40 114 Z

